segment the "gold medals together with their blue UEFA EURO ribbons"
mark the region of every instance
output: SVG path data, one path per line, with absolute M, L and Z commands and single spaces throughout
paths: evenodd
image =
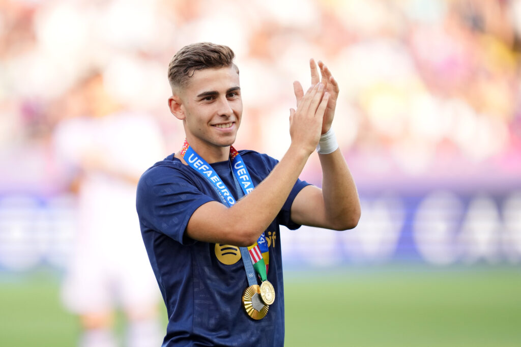
M 214 171 L 212 166 L 206 163 L 206 160 L 195 153 L 187 140 L 184 140 L 181 156 L 192 169 L 199 172 L 208 182 L 212 183 L 212 187 L 219 194 L 223 204 L 228 207 L 235 204 L 233 195 L 225 183 L 222 182 L 219 175 L 217 175 L 217 172 Z M 237 193 L 239 195 L 242 195 L 241 193 L 250 193 L 253 190 L 253 181 L 241 155 L 233 146 L 230 146 L 230 160 Z M 275 289 L 267 278 L 269 253 L 264 232 L 253 245 L 247 248 L 239 247 L 239 249 L 241 250 L 242 262 L 246 270 L 246 278 L 248 279 L 249 285 L 242 295 L 243 306 L 250 317 L 253 319 L 262 319 L 268 313 L 269 305 L 275 301 Z M 266 262 L 264 261 L 265 258 Z M 248 261 L 248 259 L 250 259 L 251 262 Z M 257 284 L 255 271 L 258 276 L 261 277 L 261 286 Z

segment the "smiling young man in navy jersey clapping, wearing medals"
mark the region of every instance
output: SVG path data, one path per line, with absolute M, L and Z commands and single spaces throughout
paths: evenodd
M 164 346 L 282 346 L 279 225 L 345 230 L 360 216 L 330 130 L 339 88 L 329 69 L 319 62 L 320 77 L 311 60 L 312 86 L 304 93 L 294 83 L 291 145 L 277 162 L 232 146 L 242 119 L 233 58 L 211 43 L 173 56 L 168 105 L 186 140 L 138 184 L 142 236 L 169 317 Z M 299 180 L 315 148 L 322 189 Z

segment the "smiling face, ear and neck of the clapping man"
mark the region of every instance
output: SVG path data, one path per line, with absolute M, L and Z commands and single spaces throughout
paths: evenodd
M 194 71 L 187 85 L 173 90 L 168 103 L 172 114 L 183 120 L 194 151 L 210 163 L 228 158 L 242 117 L 237 67 Z

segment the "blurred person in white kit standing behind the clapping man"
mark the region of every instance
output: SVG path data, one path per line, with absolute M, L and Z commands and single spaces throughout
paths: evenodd
M 157 283 L 142 244 L 135 187 L 150 158 L 163 155 L 150 115 L 125 110 L 91 73 L 60 102 L 57 157 L 78 193 L 78 224 L 63 299 L 80 316 L 82 347 L 119 345 L 115 313 L 126 323 L 126 346 L 157 346 L 161 330 Z

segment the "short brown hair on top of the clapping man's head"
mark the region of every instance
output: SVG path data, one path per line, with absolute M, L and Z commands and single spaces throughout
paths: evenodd
M 184 86 L 195 70 L 231 66 L 234 57 L 231 48 L 224 45 L 200 42 L 184 46 L 168 64 L 170 86 Z

